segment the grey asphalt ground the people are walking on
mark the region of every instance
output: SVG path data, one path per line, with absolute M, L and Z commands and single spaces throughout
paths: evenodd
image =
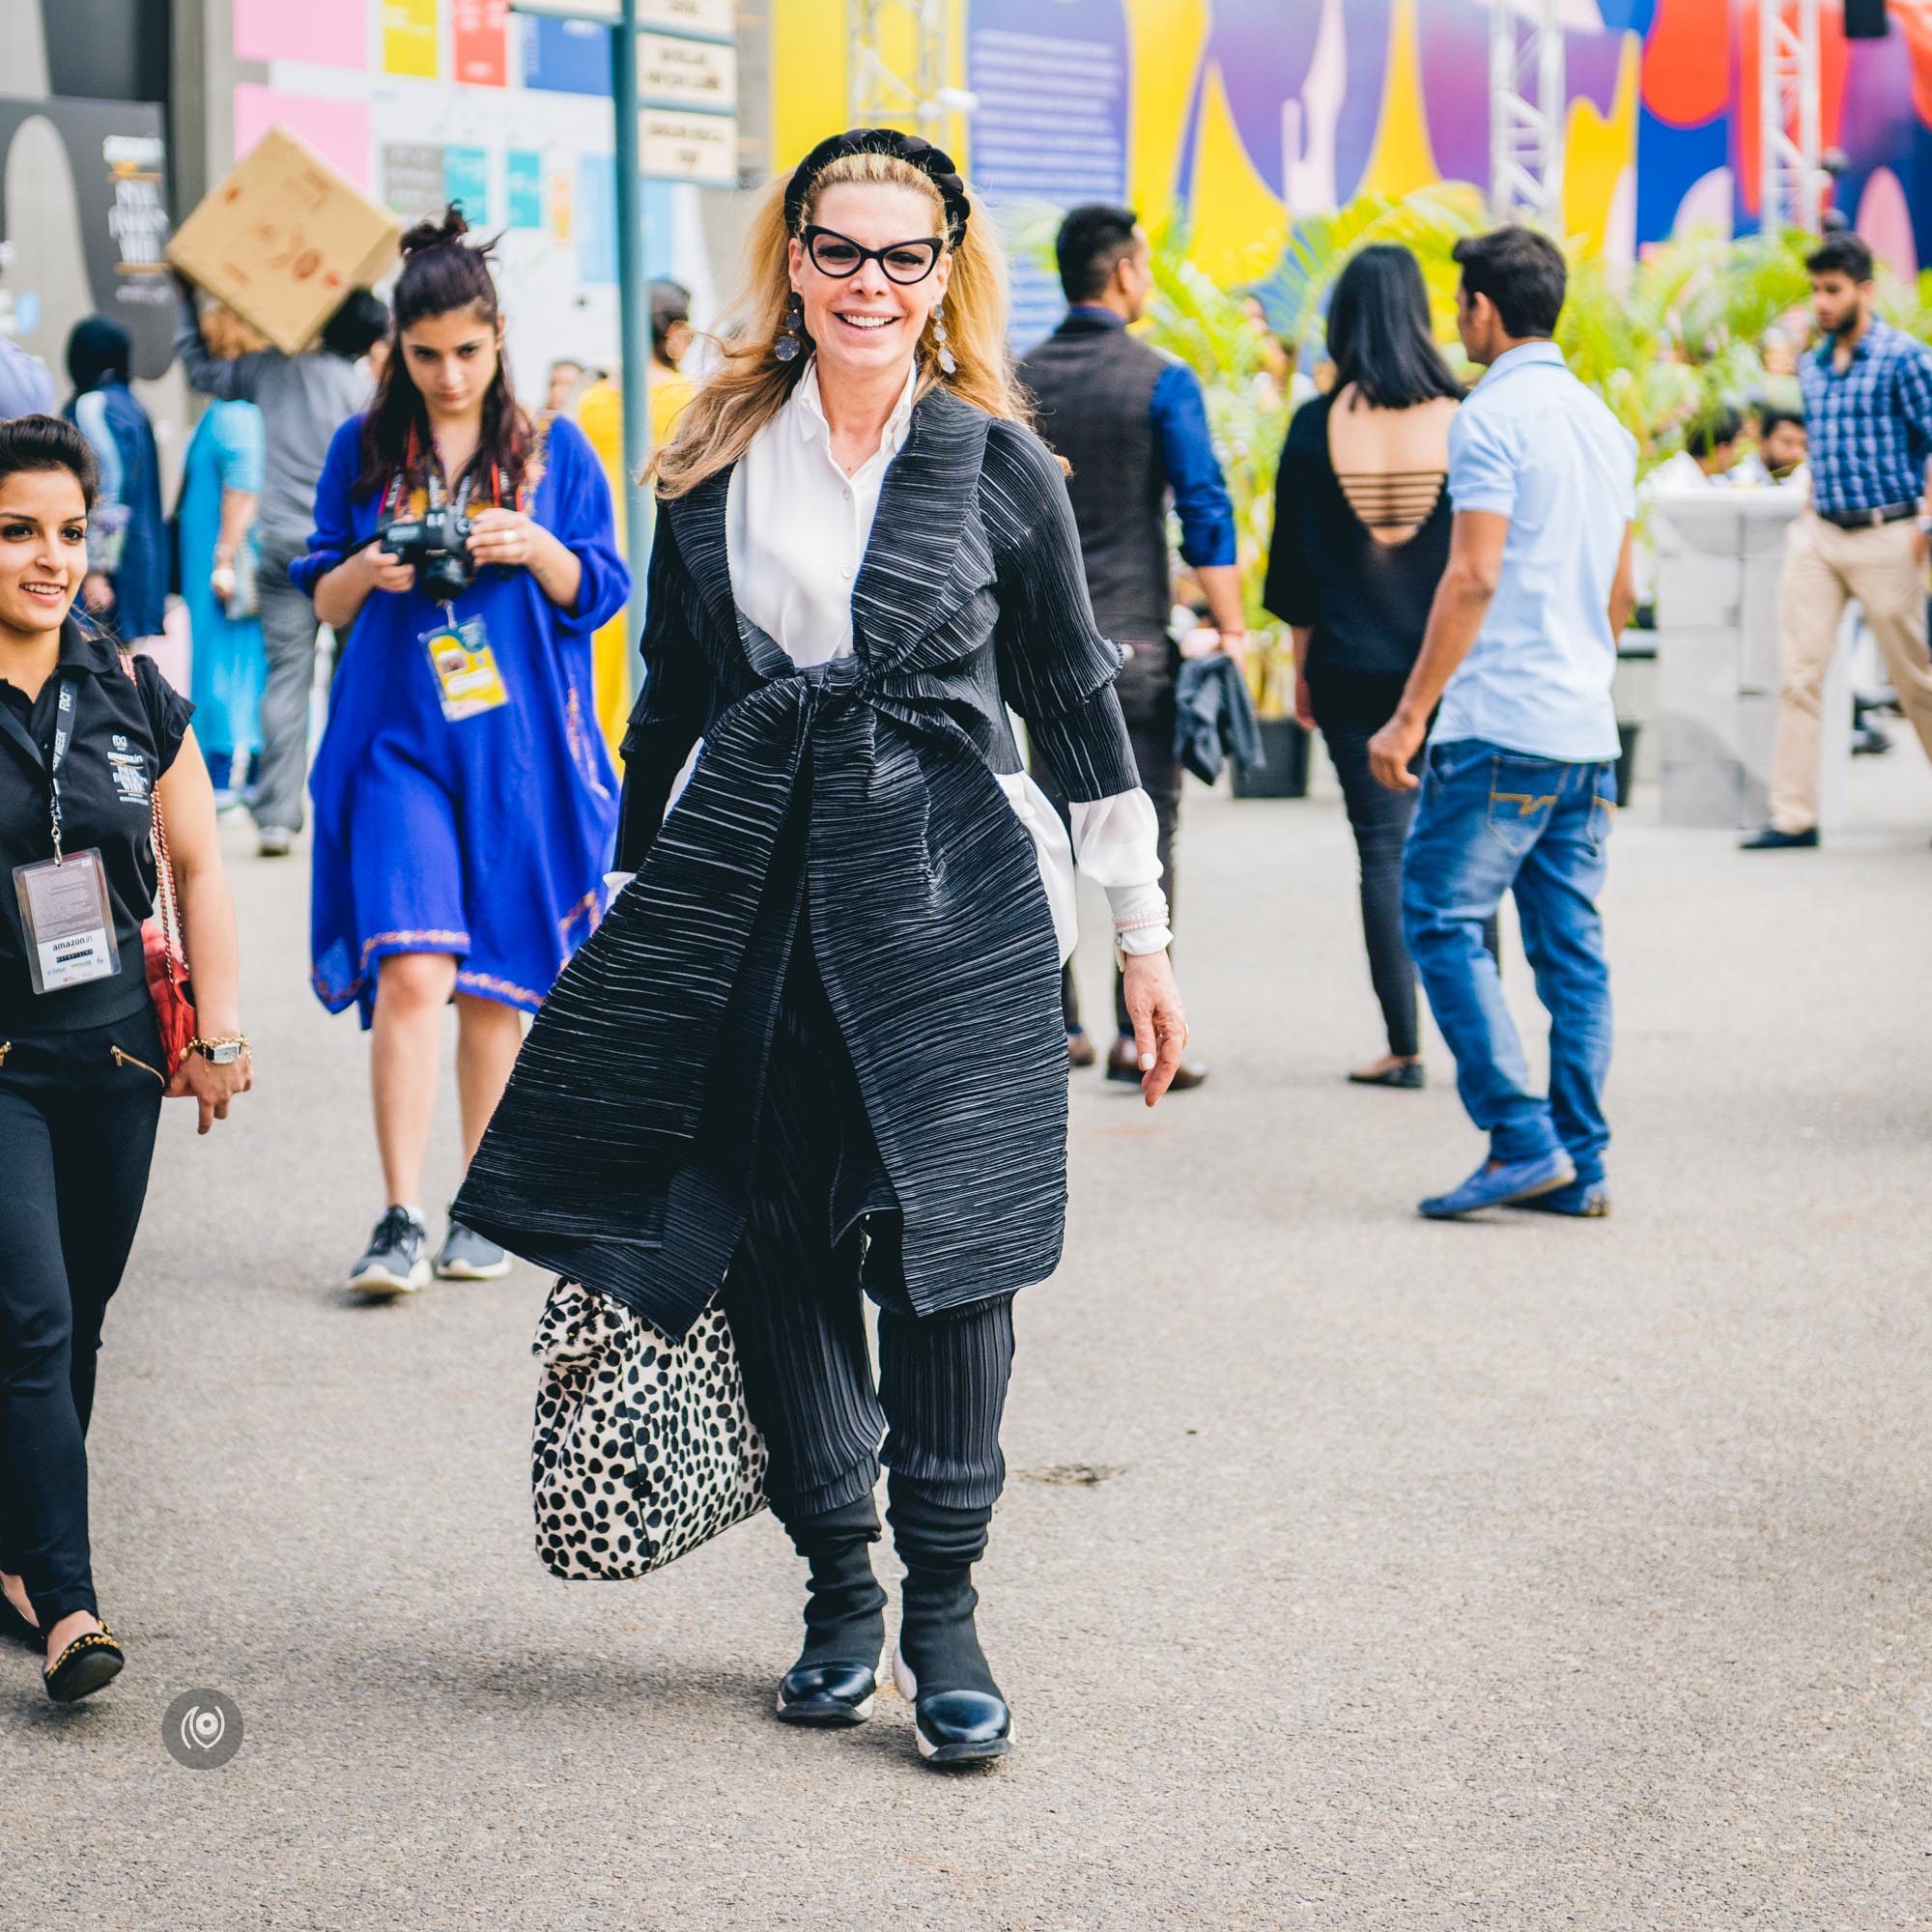
M 1480 1146 L 1439 1043 L 1428 1094 L 1341 1084 L 1378 1030 L 1333 788 L 1190 794 L 1213 1080 L 1155 1115 L 1076 1080 L 983 1567 L 1020 1747 L 962 1779 L 895 1696 L 771 1719 L 769 1517 L 636 1584 L 543 1573 L 543 1283 L 348 1304 L 365 1045 L 305 991 L 303 866 L 238 827 L 261 1088 L 164 1126 L 91 1451 L 129 1667 L 56 1712 L 0 1658 L 0 1922 L 1932 1922 L 1932 777 L 1899 736 L 1820 854 L 1627 813 L 1588 1225 L 1414 1217 Z M 195 1687 L 243 1712 L 218 1772 L 160 1745 Z

